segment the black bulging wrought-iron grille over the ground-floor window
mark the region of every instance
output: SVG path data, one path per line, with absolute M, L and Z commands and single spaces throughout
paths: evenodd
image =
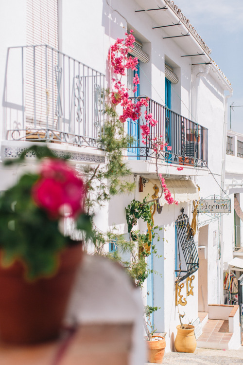
M 179 283 L 188 276 L 195 273 L 199 268 L 199 258 L 194 239 L 191 232 L 189 218 L 184 214 L 184 208 L 181 209 L 182 214 L 175 221 L 176 226 L 176 274 L 175 282 Z

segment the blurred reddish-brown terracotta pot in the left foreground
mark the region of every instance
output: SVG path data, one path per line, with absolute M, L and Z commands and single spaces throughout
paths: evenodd
M 0 266 L 0 340 L 12 344 L 34 344 L 58 337 L 66 312 L 82 244 L 65 249 L 60 266 L 51 278 L 27 282 L 20 261 Z

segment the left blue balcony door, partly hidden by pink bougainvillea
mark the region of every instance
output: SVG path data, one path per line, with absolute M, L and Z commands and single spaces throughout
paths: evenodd
M 139 76 L 139 63 L 137 65 L 138 70 L 134 71 L 133 77 L 135 77 L 136 74 Z M 135 92 L 134 96 L 135 98 L 139 97 L 140 91 L 139 86 L 137 85 L 138 90 Z M 136 99 L 135 99 L 136 100 Z M 127 154 L 129 155 L 129 160 L 139 160 L 139 119 L 136 121 L 133 121 L 132 119 L 127 120 L 127 134 L 131 135 L 134 138 L 134 142 L 131 145 L 131 148 L 127 149 Z

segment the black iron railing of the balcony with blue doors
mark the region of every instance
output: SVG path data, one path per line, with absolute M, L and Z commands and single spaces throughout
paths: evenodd
M 136 98 L 132 98 L 136 100 Z M 145 107 L 142 110 L 145 110 Z M 150 126 L 150 135 L 153 138 L 162 136 L 164 142 L 171 146 L 171 150 L 160 151 L 160 158 L 167 163 L 185 164 L 194 166 L 208 166 L 208 129 L 192 122 L 191 120 L 175 113 L 149 100 L 147 113 L 152 113 L 153 119 L 158 123 L 155 127 Z M 151 140 L 146 139 L 144 145 L 141 140 L 139 128 L 141 119 L 133 122 L 128 120 L 128 134 L 134 137 L 134 143 L 129 146 L 127 155 L 131 158 L 150 159 L 156 154 Z

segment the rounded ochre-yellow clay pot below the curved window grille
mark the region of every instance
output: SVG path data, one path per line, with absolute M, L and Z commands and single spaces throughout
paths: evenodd
M 176 326 L 177 334 L 174 341 L 174 347 L 177 352 L 191 352 L 196 349 L 197 343 L 194 334 L 194 326 L 188 325 L 186 329 L 181 329 L 180 325 Z

